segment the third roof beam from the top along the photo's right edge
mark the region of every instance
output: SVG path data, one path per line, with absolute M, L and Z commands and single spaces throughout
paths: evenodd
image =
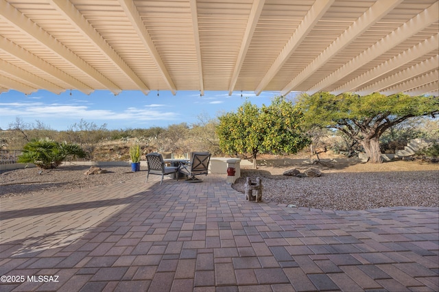
M 439 64 L 439 56 L 434 56 L 423 62 L 420 62 L 419 64 L 411 66 L 410 68 L 407 68 L 397 74 L 394 74 L 383 80 L 380 80 L 375 84 L 371 84 L 366 88 L 362 88 L 361 90 L 355 91 L 355 93 L 358 93 L 359 95 L 369 95 L 370 93 L 378 93 L 384 88 L 389 88 L 391 86 L 394 86 L 394 84 L 398 84 L 400 82 L 403 82 L 404 80 L 409 80 L 413 76 L 425 74 L 426 72 L 437 69 L 438 64 Z

